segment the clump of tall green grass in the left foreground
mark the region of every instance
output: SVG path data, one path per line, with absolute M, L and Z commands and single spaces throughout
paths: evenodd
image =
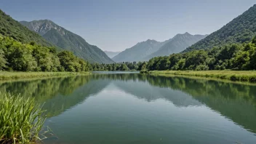
M 0 143 L 36 142 L 45 119 L 33 98 L 0 92 Z

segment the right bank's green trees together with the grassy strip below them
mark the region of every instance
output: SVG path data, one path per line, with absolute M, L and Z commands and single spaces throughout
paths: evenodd
M 256 82 L 256 71 L 252 71 L 256 70 L 256 36 L 249 44 L 153 57 L 143 68 L 140 73 Z

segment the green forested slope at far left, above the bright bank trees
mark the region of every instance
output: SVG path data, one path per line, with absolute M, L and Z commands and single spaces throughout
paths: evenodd
M 6 15 L 0 9 L 0 35 L 9 36 L 13 39 L 20 41 L 22 43 L 30 43 L 35 41 L 36 44 L 53 47 L 54 44 L 46 41 L 44 38 L 39 36 L 39 34 L 30 31 L 25 26 L 21 25 L 16 20 L 13 20 L 12 17 Z

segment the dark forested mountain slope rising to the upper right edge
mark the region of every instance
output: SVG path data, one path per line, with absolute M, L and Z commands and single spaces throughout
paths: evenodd
M 220 28 L 220 30 L 211 33 L 205 39 L 193 44 L 184 52 L 193 49 L 210 49 L 226 44 L 244 43 L 252 40 L 256 35 L 256 4 L 250 7 L 239 17 L 233 19 L 230 23 Z

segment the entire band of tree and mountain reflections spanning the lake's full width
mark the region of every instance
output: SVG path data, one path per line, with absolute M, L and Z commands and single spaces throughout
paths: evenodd
M 120 73 L 6 82 L 0 84 L 0 91 L 20 93 L 35 97 L 39 103 L 46 102 L 44 108 L 50 117 L 82 103 L 111 82 L 124 92 L 147 101 L 160 98 L 172 101 L 177 106 L 203 103 L 237 124 L 256 132 L 256 87 L 245 84 Z

